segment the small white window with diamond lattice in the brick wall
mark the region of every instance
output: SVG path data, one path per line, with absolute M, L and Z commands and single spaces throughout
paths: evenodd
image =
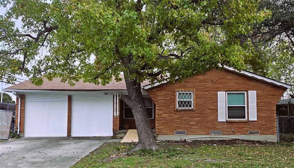
M 177 91 L 177 108 L 193 108 L 193 91 Z

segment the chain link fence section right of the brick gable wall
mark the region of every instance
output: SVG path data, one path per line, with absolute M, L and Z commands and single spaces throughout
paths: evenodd
M 294 142 L 294 116 L 277 116 L 279 142 Z

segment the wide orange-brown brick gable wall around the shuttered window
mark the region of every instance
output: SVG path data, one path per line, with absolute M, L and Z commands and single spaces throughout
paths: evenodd
M 211 78 L 215 75 L 218 80 L 214 83 Z M 194 90 L 195 110 L 175 110 L 177 89 Z M 256 90 L 257 121 L 218 122 L 217 92 L 248 90 Z M 275 135 L 275 105 L 285 89 L 227 70 L 211 70 L 205 75 L 186 79 L 184 83 L 163 84 L 148 89 L 147 92 L 156 103 L 158 135 L 174 135 L 176 130 L 186 130 L 187 135 L 208 135 L 211 130 L 221 130 L 223 135 L 247 135 L 248 130 L 259 130 L 261 135 Z M 248 115 L 247 107 L 247 117 Z

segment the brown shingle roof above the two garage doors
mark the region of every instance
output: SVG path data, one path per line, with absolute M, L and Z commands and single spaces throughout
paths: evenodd
M 120 77 L 123 79 L 121 82 L 116 82 L 114 78 L 108 85 L 95 85 L 93 83 L 83 83 L 82 80 L 75 82 L 76 85 L 71 87 L 67 83 L 61 82 L 61 78 L 54 78 L 52 81 L 44 79 L 44 83 L 41 86 L 36 86 L 30 83 L 29 80 L 18 83 L 3 89 L 8 90 L 126 90 L 126 83 L 121 74 Z M 141 83 L 142 86 L 149 84 L 148 81 Z

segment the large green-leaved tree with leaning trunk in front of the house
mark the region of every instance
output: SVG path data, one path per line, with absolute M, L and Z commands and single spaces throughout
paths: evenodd
M 123 72 L 139 143 L 157 147 L 143 103 L 140 82 L 174 82 L 205 73 L 218 64 L 242 69 L 258 62 L 250 40 L 269 11 L 248 0 L 2 0 L 0 78 L 16 74 L 35 85 L 43 77 L 74 85 L 105 85 Z M 15 20 L 21 20 L 17 28 Z M 4 66 L 3 66 L 4 65 Z M 256 64 L 255 64 L 256 65 Z M 136 150 L 135 149 L 135 150 Z

